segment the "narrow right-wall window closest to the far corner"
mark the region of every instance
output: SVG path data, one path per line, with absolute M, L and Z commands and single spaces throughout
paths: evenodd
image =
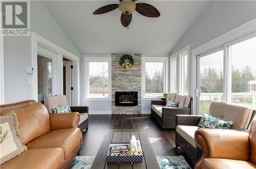
M 178 53 L 170 57 L 170 91 L 177 92 L 177 57 Z

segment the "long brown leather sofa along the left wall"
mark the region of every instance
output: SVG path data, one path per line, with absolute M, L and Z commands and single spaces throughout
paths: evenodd
M 43 104 L 29 100 L 1 105 L 0 114 L 15 111 L 27 151 L 0 165 L 5 168 L 69 168 L 82 146 L 79 113 L 49 114 Z

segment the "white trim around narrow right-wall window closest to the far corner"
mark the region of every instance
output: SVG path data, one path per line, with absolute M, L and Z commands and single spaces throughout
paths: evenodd
M 173 60 L 176 60 L 176 78 L 173 79 Z M 175 53 L 174 55 L 170 56 L 170 62 L 169 62 L 169 67 L 170 67 L 170 73 L 169 73 L 169 81 L 170 81 L 170 92 L 175 92 L 177 93 L 177 86 L 178 86 L 178 53 Z

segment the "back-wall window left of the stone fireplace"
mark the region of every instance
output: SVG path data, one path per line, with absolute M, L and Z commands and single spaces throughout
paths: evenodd
M 110 59 L 86 57 L 87 98 L 110 98 Z

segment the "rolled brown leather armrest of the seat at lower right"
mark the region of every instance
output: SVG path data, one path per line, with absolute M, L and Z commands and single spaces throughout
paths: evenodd
M 197 147 L 202 156 L 195 168 L 201 168 L 204 158 L 224 158 L 248 161 L 250 142 L 248 133 L 223 129 L 198 129 L 195 132 Z

